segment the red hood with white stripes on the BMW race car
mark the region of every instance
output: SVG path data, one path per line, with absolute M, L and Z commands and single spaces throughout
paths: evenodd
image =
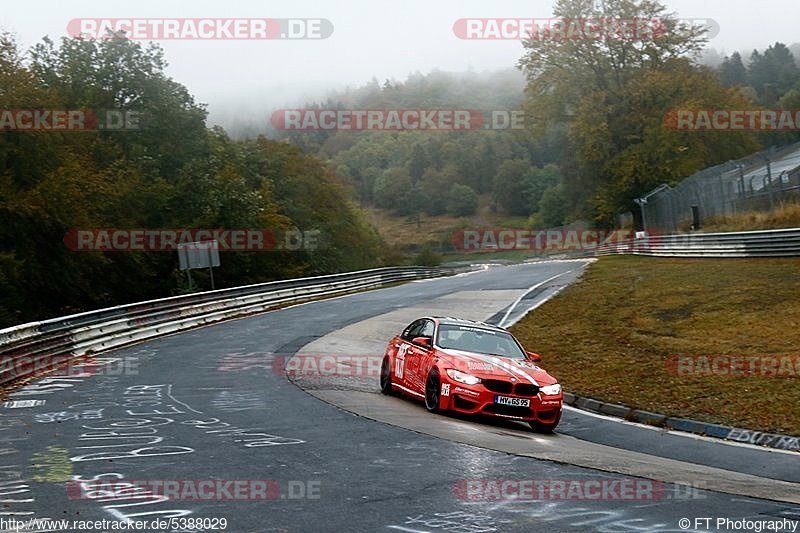
M 527 359 L 512 359 L 449 348 L 437 348 L 437 351 L 451 363 L 452 368 L 481 379 L 515 378 L 522 383 L 528 382 L 539 386 L 558 383 L 558 380 L 544 368 Z

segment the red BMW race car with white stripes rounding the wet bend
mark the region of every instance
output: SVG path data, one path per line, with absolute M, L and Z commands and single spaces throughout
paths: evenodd
M 528 422 L 550 432 L 561 420 L 558 380 L 538 366 L 503 328 L 447 317 L 423 317 L 389 341 L 381 392 L 425 400 L 428 411 L 482 414 Z

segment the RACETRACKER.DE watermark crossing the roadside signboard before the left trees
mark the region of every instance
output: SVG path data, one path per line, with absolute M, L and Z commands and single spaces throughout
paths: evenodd
M 75 252 L 169 252 L 193 243 L 215 243 L 221 252 L 313 251 L 324 245 L 320 230 L 289 229 L 72 229 L 64 244 Z

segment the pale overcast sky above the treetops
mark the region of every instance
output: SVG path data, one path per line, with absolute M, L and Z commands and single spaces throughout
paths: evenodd
M 665 0 L 685 18 L 711 18 L 720 28 L 710 46 L 730 53 L 800 41 L 798 0 Z M 323 18 L 324 40 L 162 41 L 169 74 L 211 111 L 255 102 L 290 105 L 373 76 L 398 80 L 415 71 L 496 70 L 513 66 L 516 41 L 467 41 L 453 33 L 460 18 L 542 18 L 552 0 L 27 0 L 5 4 L 0 27 L 24 47 L 67 34 L 75 18 Z M 258 105 L 262 108 L 262 105 Z

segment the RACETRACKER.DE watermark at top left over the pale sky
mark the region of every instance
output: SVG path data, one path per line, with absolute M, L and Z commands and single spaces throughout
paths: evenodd
M 80 18 L 67 24 L 70 37 L 163 40 L 327 39 L 324 18 Z

